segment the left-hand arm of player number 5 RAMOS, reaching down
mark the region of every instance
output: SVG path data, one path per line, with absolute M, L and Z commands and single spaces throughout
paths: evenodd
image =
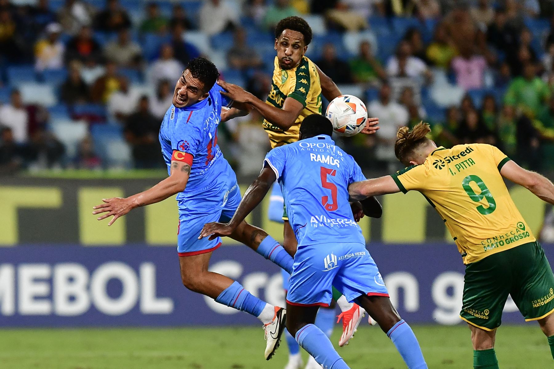
M 247 215 L 264 199 L 275 180 L 277 180 L 277 176 L 273 169 L 268 167 L 262 169 L 258 178 L 254 180 L 244 193 L 243 199 L 240 201 L 232 219 L 227 224 L 213 222 L 204 225 L 198 239 L 210 236 L 209 239 L 213 240 L 218 236 L 224 237 L 233 233 Z

